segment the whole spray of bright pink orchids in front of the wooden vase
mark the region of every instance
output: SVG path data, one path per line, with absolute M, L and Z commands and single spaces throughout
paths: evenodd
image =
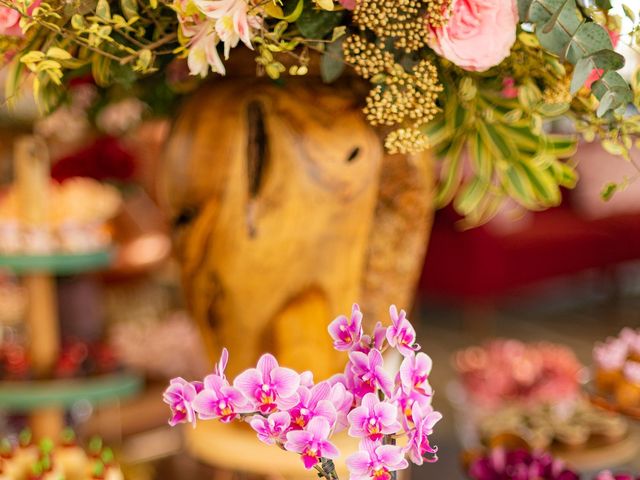
M 311 372 L 281 367 L 270 354 L 230 381 L 225 349 L 204 381 L 171 381 L 164 394 L 172 411 L 169 424 L 243 420 L 261 442 L 298 454 L 306 469 L 327 480 L 337 478 L 332 460 L 340 454 L 331 437 L 344 429 L 360 440 L 359 450 L 346 459 L 352 479 L 395 478 L 393 472 L 407 468 L 408 460 L 433 462 L 437 449 L 429 436 L 442 415 L 431 406 L 432 362 L 419 351 L 406 313 L 392 306 L 390 314 L 391 325 L 378 323 L 370 335 L 363 333 L 358 305 L 350 317 L 336 318 L 329 325 L 333 346 L 349 360 L 344 374 L 318 383 Z M 388 348 L 403 356 L 394 374 L 384 365 Z

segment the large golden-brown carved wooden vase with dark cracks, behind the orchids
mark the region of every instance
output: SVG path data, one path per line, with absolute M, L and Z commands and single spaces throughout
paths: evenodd
M 387 156 L 348 90 L 225 79 L 186 105 L 165 151 L 164 197 L 184 290 L 229 373 L 265 351 L 335 373 L 328 322 L 409 306 L 432 214 L 429 157 Z

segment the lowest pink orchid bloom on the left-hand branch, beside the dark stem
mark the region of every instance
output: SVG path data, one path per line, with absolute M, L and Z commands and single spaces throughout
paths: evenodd
M 335 445 L 329 442 L 331 425 L 324 417 L 314 417 L 307 424 L 305 430 L 294 430 L 287 433 L 287 442 L 284 448 L 290 452 L 301 455 L 304 468 L 313 468 L 320 458 L 337 458 L 340 452 Z

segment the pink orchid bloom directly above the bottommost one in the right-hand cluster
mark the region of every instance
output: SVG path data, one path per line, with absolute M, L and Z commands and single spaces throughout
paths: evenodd
M 373 441 L 381 440 L 384 435 L 396 433 L 402 428 L 398 422 L 398 408 L 380 401 L 375 393 L 367 393 L 362 398 L 362 404 L 354 408 L 347 418 L 349 435 Z

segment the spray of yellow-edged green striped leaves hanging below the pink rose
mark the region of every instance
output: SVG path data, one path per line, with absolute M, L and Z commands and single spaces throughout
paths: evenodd
M 521 91 L 525 108 L 466 77 L 447 89 L 443 113 L 423 128 L 442 160 L 437 204 L 453 202 L 467 227 L 490 220 L 508 197 L 530 210 L 558 205 L 560 187 L 577 181 L 565 161 L 575 137 L 544 133 L 542 95 L 533 85 Z

